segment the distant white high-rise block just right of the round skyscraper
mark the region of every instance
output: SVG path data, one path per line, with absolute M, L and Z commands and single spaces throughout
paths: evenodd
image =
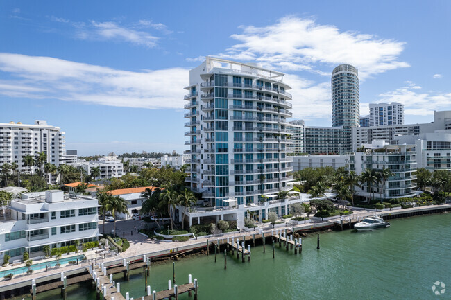
M 404 124 L 404 105 L 392 103 L 370 103 L 368 126 L 395 126 Z

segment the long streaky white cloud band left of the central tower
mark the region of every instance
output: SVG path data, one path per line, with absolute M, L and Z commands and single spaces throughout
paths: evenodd
M 187 69 L 123 71 L 58 58 L 0 53 L 0 94 L 117 107 L 183 107 Z M 5 76 L 2 76 L 6 78 Z

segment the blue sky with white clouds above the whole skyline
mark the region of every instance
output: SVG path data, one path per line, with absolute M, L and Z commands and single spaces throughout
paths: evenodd
M 451 1 L 0 1 L 0 123 L 46 120 L 79 155 L 185 150 L 184 89 L 206 55 L 258 62 L 293 118 L 331 125 L 330 74 L 405 123 L 451 109 Z

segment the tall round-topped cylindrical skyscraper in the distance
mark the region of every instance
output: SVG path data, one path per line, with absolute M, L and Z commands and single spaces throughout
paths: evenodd
M 350 64 L 332 71 L 332 126 L 359 127 L 359 73 Z

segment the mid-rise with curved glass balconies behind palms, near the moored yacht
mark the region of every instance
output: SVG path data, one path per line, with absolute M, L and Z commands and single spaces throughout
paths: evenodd
M 356 152 L 350 155 L 349 170 L 361 175 L 366 169 L 382 170 L 389 168 L 393 176 L 385 183 L 375 184 L 370 188 L 368 184 L 357 187 L 356 193 L 362 197 L 395 198 L 411 197 L 418 191 L 414 191 L 416 184 L 414 175 L 416 172 L 415 145 L 389 145 L 385 141 L 373 141 L 364 145 L 364 152 Z M 374 195 L 373 195 L 374 193 Z

